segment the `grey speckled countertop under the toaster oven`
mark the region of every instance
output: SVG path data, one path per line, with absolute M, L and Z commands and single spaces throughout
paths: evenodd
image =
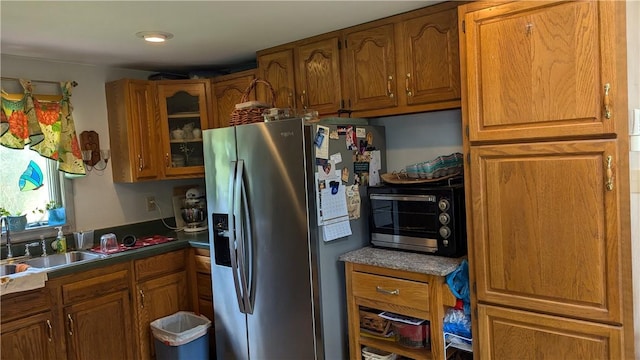
M 418 254 L 407 251 L 366 247 L 340 255 L 340 261 L 373 265 L 420 274 L 445 276 L 455 270 L 464 258 Z

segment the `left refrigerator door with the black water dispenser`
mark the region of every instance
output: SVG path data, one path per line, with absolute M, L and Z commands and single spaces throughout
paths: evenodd
M 207 208 L 210 218 L 209 244 L 211 250 L 211 278 L 215 304 L 216 355 L 218 359 L 248 359 L 247 319 L 240 312 L 236 285 L 229 259 L 229 236 L 218 224 L 230 211 L 230 181 L 237 160 L 235 128 L 205 130 L 205 181 Z M 214 215 L 217 214 L 217 215 Z M 215 220 L 214 220 L 215 219 Z M 229 219 L 229 221 L 233 221 Z M 226 227 L 226 226 L 225 226 Z M 217 254 L 226 251 L 227 254 Z

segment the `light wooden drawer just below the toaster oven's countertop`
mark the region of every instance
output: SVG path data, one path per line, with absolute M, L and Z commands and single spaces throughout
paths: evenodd
M 366 273 L 353 273 L 353 296 L 429 311 L 429 285 Z

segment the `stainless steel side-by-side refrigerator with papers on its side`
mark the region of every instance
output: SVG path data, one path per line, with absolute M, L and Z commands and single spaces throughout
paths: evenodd
M 365 136 L 375 139 L 381 173 L 385 134 L 362 119 L 320 125 L 329 133 L 320 135 L 318 124 L 302 119 L 203 132 L 218 360 L 348 356 L 338 256 L 369 244 L 366 187 L 359 186 L 352 235 L 325 242 L 316 212 L 317 143 L 327 141 L 329 154 L 340 153 L 335 167 L 347 167 L 353 183 L 354 152 L 362 149 L 347 148 L 345 128 L 357 130 L 356 146 Z

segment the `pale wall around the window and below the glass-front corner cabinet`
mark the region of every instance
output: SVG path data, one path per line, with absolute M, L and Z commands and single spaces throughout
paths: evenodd
M 95 130 L 100 135 L 102 148 L 109 147 L 105 82 L 120 78 L 146 79 L 150 74 L 145 71 L 43 61 L 8 55 L 1 56 L 1 64 L 1 73 L 4 77 L 78 82 L 71 97 L 76 130 L 78 134 L 85 130 Z M 35 92 L 37 93 L 37 89 Z M 85 177 L 72 180 L 72 183 L 76 227 L 80 230 L 172 217 L 173 187 L 194 183 L 204 184 L 201 180 L 114 184 L 110 164 L 102 173 L 92 171 Z M 155 196 L 161 213 L 147 212 L 144 201 L 147 195 Z

